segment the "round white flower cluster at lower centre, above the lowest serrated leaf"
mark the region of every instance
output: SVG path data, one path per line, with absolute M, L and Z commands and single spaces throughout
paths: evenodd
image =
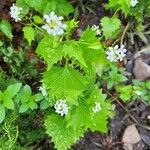
M 55 103 L 55 112 L 60 114 L 61 116 L 68 114 L 68 105 L 66 104 L 66 100 L 60 99 Z

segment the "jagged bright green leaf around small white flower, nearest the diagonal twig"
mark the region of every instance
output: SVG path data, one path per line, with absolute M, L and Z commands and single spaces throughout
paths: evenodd
M 107 133 L 108 117 L 114 116 L 111 103 L 105 100 L 106 96 L 106 94 L 102 93 L 102 90 L 98 89 L 97 87 L 94 87 L 87 100 L 90 110 L 89 114 L 91 114 L 88 128 L 91 129 L 93 132 L 101 131 L 103 133 Z M 92 110 L 92 108 L 95 106 L 95 102 L 99 102 L 102 108 L 102 110 L 100 110 L 97 113 L 94 113 Z

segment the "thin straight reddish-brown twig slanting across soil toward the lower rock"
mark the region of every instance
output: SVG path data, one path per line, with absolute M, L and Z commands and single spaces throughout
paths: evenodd
M 127 108 L 125 108 L 122 103 L 116 98 L 114 97 L 109 91 L 107 91 L 106 89 L 104 89 L 104 91 L 111 97 L 113 97 L 113 99 L 129 114 L 130 118 L 136 123 L 138 124 L 138 121 L 129 113 L 129 110 Z

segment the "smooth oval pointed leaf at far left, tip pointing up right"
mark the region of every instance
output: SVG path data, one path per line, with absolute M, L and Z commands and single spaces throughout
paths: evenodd
M 4 97 L 12 98 L 19 92 L 21 86 L 22 86 L 22 83 L 16 83 L 16 84 L 9 85 L 3 93 Z

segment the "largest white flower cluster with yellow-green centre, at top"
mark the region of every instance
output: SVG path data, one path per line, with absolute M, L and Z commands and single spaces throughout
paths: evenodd
M 64 33 L 64 29 L 66 29 L 67 25 L 62 23 L 62 16 L 57 16 L 55 12 L 51 12 L 49 15 L 44 15 L 44 19 L 46 20 L 46 24 L 42 26 L 44 30 L 48 32 L 50 35 L 61 35 Z

